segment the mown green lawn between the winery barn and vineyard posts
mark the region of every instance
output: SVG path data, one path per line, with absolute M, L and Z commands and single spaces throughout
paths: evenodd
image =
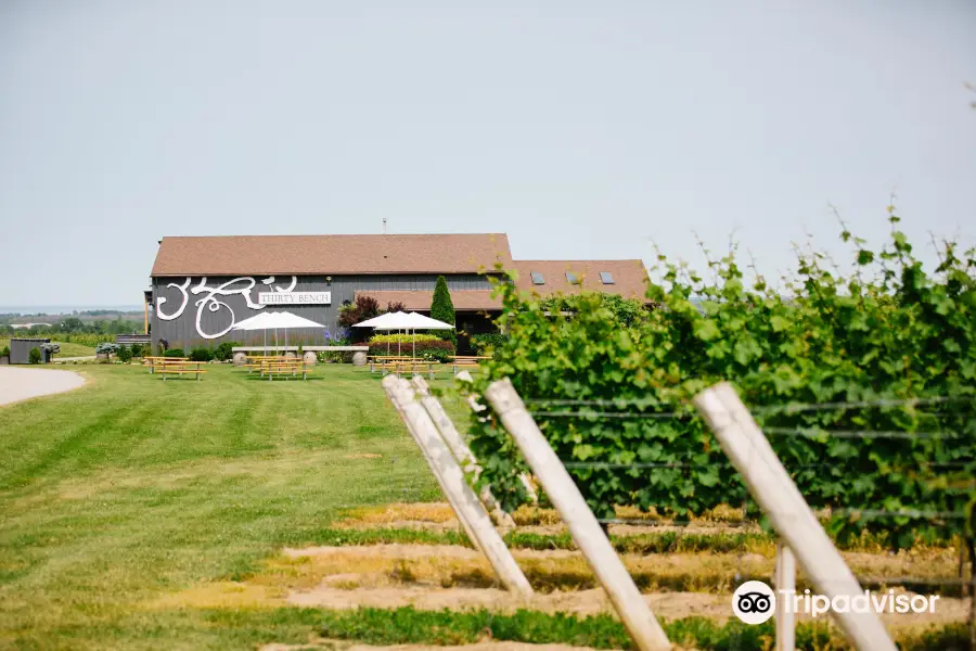
M 208 370 L 85 367 L 80 390 L 0 407 L 0 648 L 307 640 L 318 611 L 159 604 L 321 542 L 342 508 L 440 499 L 377 376 Z

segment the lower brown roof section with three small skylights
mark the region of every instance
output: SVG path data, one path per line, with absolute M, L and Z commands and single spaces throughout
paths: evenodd
M 641 260 L 515 260 L 514 264 L 518 271 L 516 286 L 541 296 L 556 292 L 573 294 L 582 286 L 585 290 L 646 301 L 647 270 Z M 532 283 L 532 271 L 542 275 L 544 284 Z M 566 278 L 567 271 L 575 273 L 581 284 L 572 284 Z M 601 271 L 611 273 L 613 284 L 603 283 Z

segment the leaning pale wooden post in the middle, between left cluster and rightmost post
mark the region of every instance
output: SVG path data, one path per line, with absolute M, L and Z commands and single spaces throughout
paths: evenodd
M 545 495 L 563 516 L 573 539 L 609 596 L 634 643 L 641 651 L 670 649 L 671 644 L 664 629 L 603 529 L 600 528 L 600 523 L 587 506 L 573 477 L 563 468 L 563 463 L 539 431 L 536 421 L 526 410 L 512 382 L 508 379 L 493 382 L 485 392 L 485 397 L 515 438 L 532 473 L 539 477 L 545 489 Z

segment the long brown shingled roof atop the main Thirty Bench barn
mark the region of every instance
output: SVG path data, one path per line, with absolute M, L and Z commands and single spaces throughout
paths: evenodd
M 504 233 L 163 238 L 152 276 L 470 273 L 512 266 Z

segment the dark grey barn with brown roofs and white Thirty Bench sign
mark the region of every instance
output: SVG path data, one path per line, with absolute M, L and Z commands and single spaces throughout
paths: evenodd
M 540 295 L 582 288 L 643 298 L 647 278 L 639 259 L 513 260 L 503 233 L 164 238 L 145 296 L 147 324 L 154 347 L 160 340 L 184 349 L 256 343 L 259 335 L 231 329 L 260 310 L 287 309 L 325 326 L 293 342 L 321 345 L 358 295 L 382 308 L 429 311 L 444 276 L 459 331 L 486 332 L 500 307 L 489 281 L 499 263 Z

